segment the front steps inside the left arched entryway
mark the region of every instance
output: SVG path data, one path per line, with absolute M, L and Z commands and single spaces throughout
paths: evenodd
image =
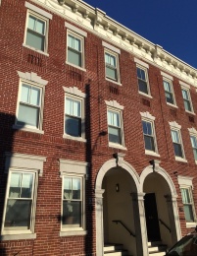
M 106 256 L 129 256 L 128 252 L 123 249 L 122 244 L 105 244 L 104 255 Z

